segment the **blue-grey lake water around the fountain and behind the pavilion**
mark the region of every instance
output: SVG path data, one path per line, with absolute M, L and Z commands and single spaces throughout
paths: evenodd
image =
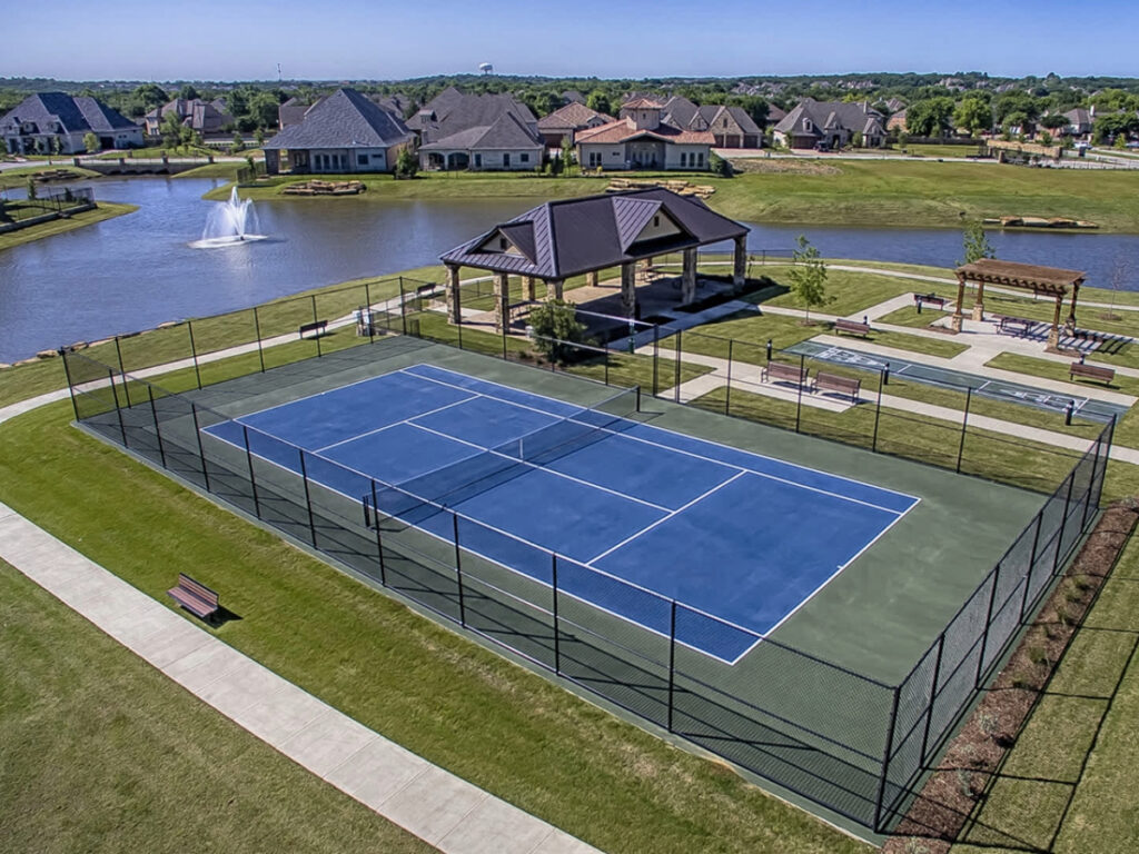
M 191 248 L 216 204 L 202 195 L 218 183 L 97 181 L 98 199 L 139 211 L 0 251 L 0 361 L 434 264 L 446 249 L 538 204 L 533 197 L 259 202 L 260 231 L 270 239 Z M 789 249 L 805 233 L 828 257 L 952 266 L 961 256 L 961 233 L 952 229 L 749 227 L 755 251 Z M 1008 231 L 989 239 L 1001 258 L 1085 270 L 1088 284 L 1100 287 L 1117 257 L 1130 258 L 1126 287 L 1139 290 L 1139 236 Z

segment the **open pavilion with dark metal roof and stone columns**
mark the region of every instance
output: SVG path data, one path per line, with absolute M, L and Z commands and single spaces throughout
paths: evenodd
M 696 198 L 663 188 L 547 202 L 440 256 L 446 266 L 448 317 L 461 323 L 459 268 L 494 273 L 494 323 L 509 326 L 509 278 L 522 277 L 526 301 L 535 282 L 549 298 L 563 298 L 565 280 L 585 276 L 597 286 L 598 272 L 621 268 L 621 303 L 637 317 L 638 262 L 679 252 L 683 256 L 680 302 L 696 297 L 696 253 L 700 246 L 732 240 L 732 280 L 744 284 L 747 227 L 710 210 Z

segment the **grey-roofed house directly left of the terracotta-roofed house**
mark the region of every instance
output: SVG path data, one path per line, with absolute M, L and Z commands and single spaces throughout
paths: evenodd
M 449 87 L 408 126 L 418 133 L 423 169 L 526 171 L 542 164 L 538 120 L 511 95 L 464 95 Z

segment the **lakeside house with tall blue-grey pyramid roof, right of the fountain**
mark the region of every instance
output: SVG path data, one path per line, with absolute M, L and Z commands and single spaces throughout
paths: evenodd
M 391 172 L 413 139 L 399 116 L 354 89 L 337 89 L 265 142 L 265 171 Z

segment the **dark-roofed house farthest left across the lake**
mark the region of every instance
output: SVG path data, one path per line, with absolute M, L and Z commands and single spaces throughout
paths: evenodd
M 87 96 L 40 92 L 0 117 L 0 139 L 9 154 L 82 154 L 88 133 L 98 137 L 105 149 L 144 145 L 141 128 Z

